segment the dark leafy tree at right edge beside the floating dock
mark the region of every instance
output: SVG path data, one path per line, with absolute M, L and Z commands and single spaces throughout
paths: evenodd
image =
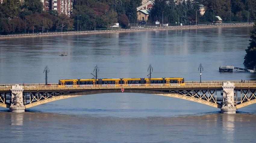
M 251 34 L 251 39 L 249 40 L 250 44 L 248 48 L 245 50 L 246 55 L 244 58 L 245 59 L 244 65 L 252 69 L 253 66 L 256 66 L 256 22 L 250 34 Z

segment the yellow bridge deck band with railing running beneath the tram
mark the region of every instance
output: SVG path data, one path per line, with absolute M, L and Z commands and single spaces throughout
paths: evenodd
M 225 81 L 203 81 L 203 82 L 186 82 L 185 86 L 180 84 L 103 84 L 103 85 L 66 85 L 59 86 L 57 83 L 52 83 L 51 86 L 42 86 L 42 84 L 27 84 L 23 86 L 23 89 L 26 90 L 67 90 L 67 89 L 190 89 L 190 88 L 221 88 Z M 239 88 L 249 88 L 256 87 L 256 81 L 247 81 L 241 83 L 241 81 L 233 81 L 236 89 Z M 11 85 L 8 84 L 0 86 L 0 91 L 9 91 Z

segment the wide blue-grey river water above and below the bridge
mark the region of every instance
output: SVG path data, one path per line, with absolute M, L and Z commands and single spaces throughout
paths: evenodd
M 243 67 L 252 27 L 142 31 L 0 40 L 0 83 L 49 83 L 59 79 L 184 77 L 256 80 Z M 61 54 L 67 56 L 59 56 Z M 226 63 L 225 63 L 226 62 Z M 136 93 L 69 98 L 11 113 L 0 108 L 1 142 L 254 142 L 256 104 L 235 115 L 191 101 Z

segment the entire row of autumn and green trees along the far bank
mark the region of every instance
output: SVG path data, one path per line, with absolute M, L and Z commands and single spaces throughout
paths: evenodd
M 68 17 L 56 10 L 43 12 L 41 0 L 5 0 L 0 4 L 0 34 L 34 33 L 68 30 L 108 29 L 114 23 L 129 28 L 137 23 L 136 7 L 142 0 L 74 0 Z M 220 16 L 223 21 L 248 21 L 256 19 L 255 0 L 188 0 L 175 4 L 173 0 L 155 0 L 148 23 L 197 24 L 213 22 Z M 200 4 L 205 13 L 200 15 Z M 77 26 L 78 25 L 78 26 Z

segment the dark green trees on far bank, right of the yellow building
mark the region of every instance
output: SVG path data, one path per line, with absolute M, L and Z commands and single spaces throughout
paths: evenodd
M 204 24 L 215 22 L 220 16 L 223 21 L 253 22 L 256 19 L 255 0 L 188 0 L 175 4 L 173 0 L 155 0 L 150 21 L 163 23 Z M 204 15 L 200 15 L 200 7 L 205 7 Z M 179 21 L 180 20 L 180 21 Z

